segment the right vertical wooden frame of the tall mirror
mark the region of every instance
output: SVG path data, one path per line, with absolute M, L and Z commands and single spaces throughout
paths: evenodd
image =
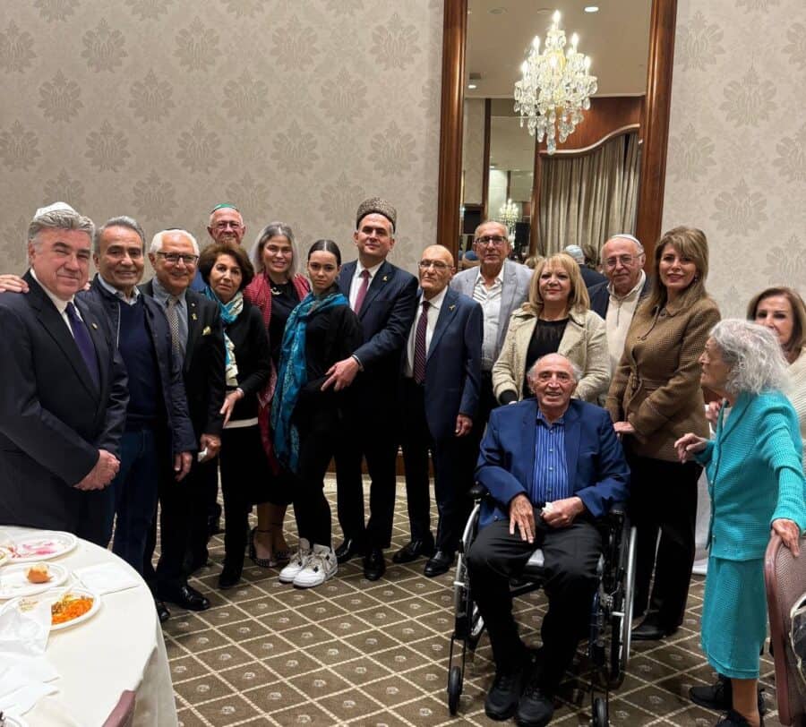
M 649 21 L 647 100 L 644 104 L 643 148 L 638 216 L 635 235 L 647 251 L 651 267 L 655 244 L 661 235 L 664 214 L 666 148 L 669 143 L 669 111 L 672 104 L 672 65 L 677 0 L 652 0 Z

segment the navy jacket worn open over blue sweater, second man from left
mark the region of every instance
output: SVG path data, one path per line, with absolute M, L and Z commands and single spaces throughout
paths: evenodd
M 98 304 L 107 312 L 109 326 L 115 336 L 117 346 L 120 341 L 120 306 L 126 304 L 101 286 L 98 275 L 92 280 L 90 290 L 79 293 L 79 297 Z M 170 451 L 173 454 L 195 451 L 198 449 L 198 442 L 193 435 L 193 426 L 187 413 L 187 398 L 182 382 L 182 362 L 177 361 L 173 354 L 171 331 L 168 328 L 165 312 L 148 295 L 143 295 L 143 305 L 159 369 L 159 387 L 162 390 L 162 404 L 167 417 Z M 173 458 L 171 458 L 171 464 L 173 464 Z

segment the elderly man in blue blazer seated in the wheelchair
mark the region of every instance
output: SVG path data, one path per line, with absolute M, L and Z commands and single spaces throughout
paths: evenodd
M 602 536 L 596 520 L 628 495 L 630 469 L 607 412 L 571 399 L 579 369 L 565 356 L 539 358 L 528 372 L 536 398 L 493 410 L 476 480 L 484 500 L 479 532 L 467 554 L 470 586 L 484 618 L 495 680 L 484 711 L 544 725 L 553 694 L 590 618 Z M 510 578 L 544 552 L 549 610 L 543 646 L 529 654 L 512 617 Z

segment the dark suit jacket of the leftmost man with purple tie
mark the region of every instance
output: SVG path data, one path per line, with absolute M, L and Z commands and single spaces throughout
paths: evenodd
M 128 392 L 104 312 L 75 301 L 95 346 L 99 387 L 70 330 L 26 273 L 28 295 L 0 295 L 0 523 L 77 532 L 91 492 L 73 489 L 118 454 Z

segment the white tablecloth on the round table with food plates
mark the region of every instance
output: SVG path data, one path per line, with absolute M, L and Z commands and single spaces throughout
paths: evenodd
M 0 529 L 11 535 L 22 530 Z M 54 560 L 71 571 L 109 561 L 134 573 L 114 553 L 83 540 L 73 552 Z M 104 595 L 100 611 L 90 620 L 50 634 L 46 656 L 61 675 L 54 682 L 59 690 L 23 715 L 30 727 L 101 725 L 126 689 L 137 692 L 137 727 L 175 727 L 165 641 L 149 587 L 138 579 L 139 586 Z

